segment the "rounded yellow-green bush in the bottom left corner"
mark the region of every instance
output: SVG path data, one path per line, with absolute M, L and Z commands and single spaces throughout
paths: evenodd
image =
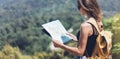
M 9 44 L 6 44 L 2 51 L 0 51 L 0 59 L 22 59 L 21 56 L 19 48 L 13 48 Z

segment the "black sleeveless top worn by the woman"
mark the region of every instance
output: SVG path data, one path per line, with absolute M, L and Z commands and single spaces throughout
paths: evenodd
M 91 24 L 91 23 L 89 23 L 89 24 Z M 85 49 L 85 52 L 84 52 L 84 56 L 87 56 L 87 57 L 91 57 L 91 55 L 93 53 L 93 50 L 95 48 L 96 38 L 98 36 L 98 32 L 93 25 L 92 25 L 92 30 L 93 30 L 93 34 L 88 37 L 86 49 Z M 79 41 L 79 36 L 80 36 L 80 31 L 77 33 L 78 41 Z

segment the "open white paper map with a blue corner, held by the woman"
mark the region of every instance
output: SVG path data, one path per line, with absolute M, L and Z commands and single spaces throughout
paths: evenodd
M 70 37 L 66 35 L 68 32 L 59 20 L 45 23 L 42 26 L 52 38 L 60 41 L 61 43 L 66 43 L 71 40 Z

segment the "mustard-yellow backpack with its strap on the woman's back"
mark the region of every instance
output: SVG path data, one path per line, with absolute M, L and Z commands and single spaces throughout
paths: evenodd
M 96 38 L 96 45 L 91 57 L 87 59 L 112 59 L 112 33 L 110 31 L 100 31 L 95 19 L 90 18 L 87 22 L 91 23 L 98 31 L 98 37 Z

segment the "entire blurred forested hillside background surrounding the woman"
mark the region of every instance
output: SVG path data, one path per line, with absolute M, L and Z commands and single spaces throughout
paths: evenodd
M 120 2 L 98 3 L 104 29 L 113 33 L 113 59 L 120 59 Z M 41 25 L 57 19 L 76 35 L 84 21 L 77 10 L 77 0 L 0 0 L 0 59 L 73 59 L 73 54 L 49 47 L 51 37 Z M 76 47 L 77 42 L 67 45 Z

